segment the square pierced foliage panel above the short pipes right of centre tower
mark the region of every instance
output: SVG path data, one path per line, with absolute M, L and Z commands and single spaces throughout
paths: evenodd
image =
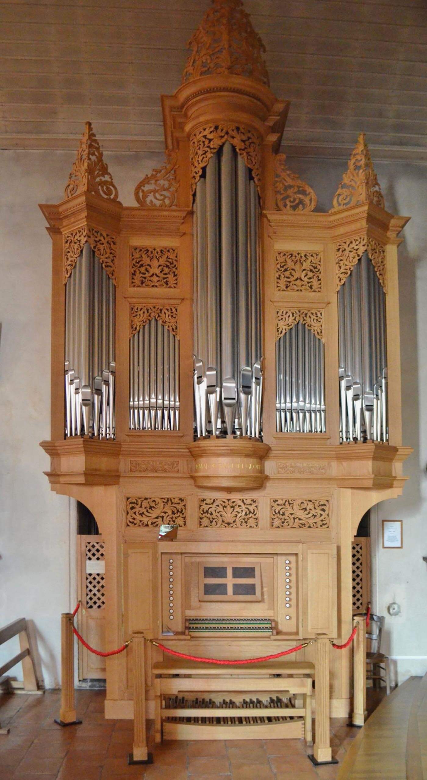
M 276 290 L 320 293 L 322 289 L 322 256 L 320 252 L 278 252 Z

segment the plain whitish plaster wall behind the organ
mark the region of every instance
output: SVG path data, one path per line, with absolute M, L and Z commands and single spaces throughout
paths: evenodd
M 50 426 L 51 239 L 38 203 L 61 200 L 74 160 L 64 151 L 0 152 L 0 626 L 25 615 L 37 649 L 37 672 L 46 687 L 60 675 L 59 615 L 73 608 L 74 502 L 50 491 L 48 459 L 39 441 Z M 139 179 L 161 154 L 105 155 L 121 201 L 134 204 Z M 329 209 L 346 161 L 291 159 L 314 187 L 319 209 Z M 414 453 L 402 498 L 373 515 L 373 608 L 387 614 L 398 601 L 401 615 L 387 616 L 384 650 L 396 658 L 401 681 L 427 669 L 427 230 L 425 167 L 378 163 L 387 208 L 411 215 L 400 248 L 404 444 Z M 380 520 L 404 520 L 404 548 L 382 550 Z M 425 545 L 425 546 L 424 546 Z M 0 648 L 0 664 L 16 650 Z M 19 676 L 20 670 L 16 670 Z

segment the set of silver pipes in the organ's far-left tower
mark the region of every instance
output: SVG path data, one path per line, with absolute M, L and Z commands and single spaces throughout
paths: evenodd
M 114 282 L 88 243 L 65 289 L 65 437 L 115 437 Z

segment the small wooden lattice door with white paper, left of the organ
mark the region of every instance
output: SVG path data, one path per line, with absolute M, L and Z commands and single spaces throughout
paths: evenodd
M 103 538 L 78 537 L 79 632 L 91 647 L 105 650 L 105 559 Z M 104 679 L 105 658 L 94 655 L 79 642 L 79 679 Z

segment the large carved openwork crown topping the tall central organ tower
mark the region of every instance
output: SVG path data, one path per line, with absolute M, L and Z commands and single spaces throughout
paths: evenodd
M 252 27 L 242 0 L 213 0 L 188 41 L 191 55 L 183 83 L 198 76 L 233 73 L 269 84 L 265 47 Z

